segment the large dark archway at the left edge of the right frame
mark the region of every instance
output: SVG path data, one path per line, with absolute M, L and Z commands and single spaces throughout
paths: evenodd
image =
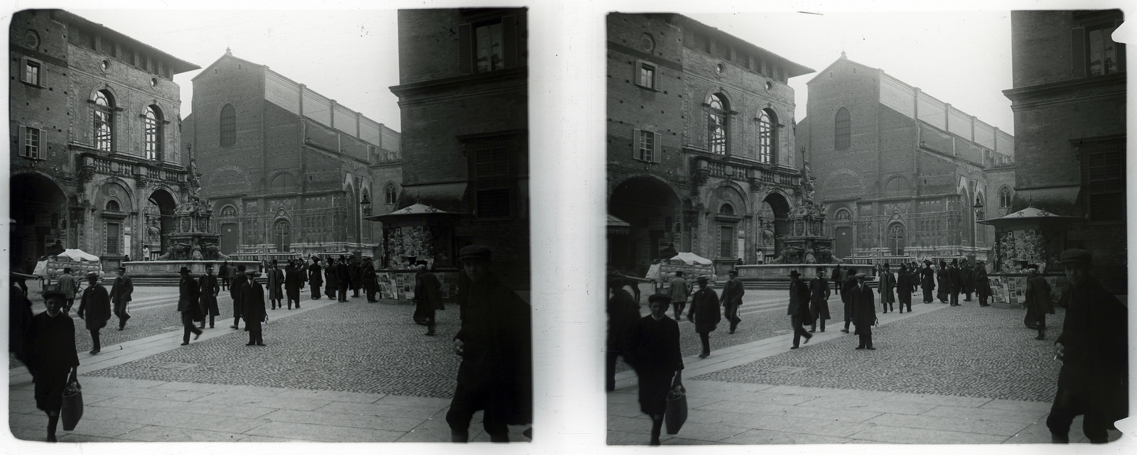
M 624 180 L 612 191 L 608 213 L 631 225 L 625 233 L 608 236 L 609 267 L 644 276 L 669 243 L 683 250 L 681 203 L 663 182 L 652 177 Z

